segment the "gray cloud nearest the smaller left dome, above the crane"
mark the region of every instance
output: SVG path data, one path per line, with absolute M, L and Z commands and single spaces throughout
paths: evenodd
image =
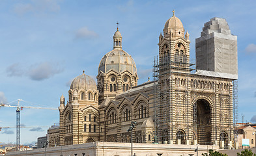
M 50 62 L 42 62 L 36 64 L 29 70 L 29 78 L 35 81 L 42 81 L 48 79 L 51 76 L 63 72 L 63 68 L 58 67 L 58 64 L 52 64 Z

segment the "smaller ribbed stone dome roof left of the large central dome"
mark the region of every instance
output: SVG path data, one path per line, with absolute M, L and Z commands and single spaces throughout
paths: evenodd
M 94 79 L 92 79 L 92 77 L 89 77 L 88 75 L 85 75 L 85 73 L 83 73 L 82 75 L 79 75 L 72 81 L 70 85 L 70 89 L 97 90 L 97 87 Z

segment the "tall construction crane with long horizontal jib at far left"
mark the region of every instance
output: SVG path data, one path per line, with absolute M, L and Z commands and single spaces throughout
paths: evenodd
M 12 105 L 5 105 L 3 103 L 0 104 L 1 107 L 12 107 L 16 108 L 16 150 L 20 150 L 20 110 L 23 109 L 50 109 L 50 110 L 58 110 L 57 108 L 47 108 L 47 107 L 25 107 L 20 106 L 20 101 L 23 101 L 22 99 L 17 99 L 18 101 L 17 106 Z M 25 102 L 25 101 L 24 101 Z

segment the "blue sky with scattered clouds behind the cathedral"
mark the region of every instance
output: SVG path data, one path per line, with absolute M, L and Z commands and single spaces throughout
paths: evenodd
M 122 47 L 135 60 L 139 84 L 152 77 L 158 36 L 172 10 L 195 38 L 210 18 L 227 19 L 238 36 L 239 122 L 256 122 L 256 2 L 248 1 L 66 1 L 0 0 L 0 101 L 26 106 L 58 107 L 72 79 L 96 77 L 100 59 L 113 48 L 116 22 Z M 16 103 L 11 103 L 16 105 Z M 253 118 L 254 116 L 254 118 Z M 25 126 L 59 123 L 58 110 L 23 109 Z M 0 109 L 0 127 L 16 125 L 16 110 Z M 22 128 L 21 143 L 45 136 L 47 127 Z M 16 142 L 16 129 L 3 129 L 0 142 Z

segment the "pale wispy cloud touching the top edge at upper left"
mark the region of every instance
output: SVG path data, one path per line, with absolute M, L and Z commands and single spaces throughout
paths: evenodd
M 27 12 L 57 12 L 61 7 L 58 0 L 32 0 L 31 3 L 17 3 L 14 5 L 14 12 L 22 15 Z

